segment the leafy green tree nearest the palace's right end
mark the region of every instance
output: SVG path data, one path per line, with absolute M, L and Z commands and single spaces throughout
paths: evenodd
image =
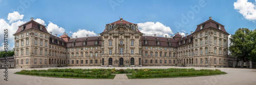
M 231 35 L 229 50 L 232 56 L 238 60 L 246 62 L 249 58 L 250 50 L 247 49 L 246 36 L 250 33 L 249 29 L 239 28 L 234 35 Z M 243 68 L 243 64 L 241 65 Z

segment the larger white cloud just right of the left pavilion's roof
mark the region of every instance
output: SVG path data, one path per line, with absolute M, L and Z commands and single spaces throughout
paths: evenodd
M 52 32 L 52 35 L 54 34 L 62 35 L 65 32 L 65 29 L 63 29 L 62 27 L 59 27 L 58 25 L 52 23 L 51 21 L 49 21 L 49 24 L 46 27 L 46 29 L 48 32 Z

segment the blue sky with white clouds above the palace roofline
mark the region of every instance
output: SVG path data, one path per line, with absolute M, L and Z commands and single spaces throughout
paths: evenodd
M 47 26 L 48 32 L 69 36 L 97 36 L 105 24 L 122 17 L 136 23 L 146 36 L 168 37 L 195 31 L 198 24 L 209 17 L 225 25 L 229 34 L 246 27 L 256 29 L 256 0 L 0 0 L 0 30 L 8 29 L 9 47 L 14 47 L 12 36 L 19 25 L 30 20 Z M 0 32 L 0 51 L 4 50 L 4 32 Z

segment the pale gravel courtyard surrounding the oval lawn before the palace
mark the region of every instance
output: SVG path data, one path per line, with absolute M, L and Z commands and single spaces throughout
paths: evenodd
M 80 78 L 56 78 L 41 77 L 30 75 L 14 74 L 23 69 L 8 69 L 8 81 L 4 80 L 4 69 L 1 69 L 1 84 L 255 84 L 256 69 L 239 68 L 202 68 L 202 67 L 170 67 L 170 66 L 151 66 L 151 67 L 61 67 L 81 68 L 81 69 L 164 69 L 164 68 L 195 68 L 195 69 L 219 69 L 226 72 L 224 75 L 198 76 L 198 77 L 178 77 L 178 78 L 150 78 L 150 79 L 128 79 L 126 74 L 116 74 L 114 79 L 80 79 Z M 49 68 L 38 68 L 49 69 Z M 33 69 L 26 69 L 33 70 Z

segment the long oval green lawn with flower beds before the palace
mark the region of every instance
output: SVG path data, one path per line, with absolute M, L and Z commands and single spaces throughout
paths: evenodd
M 218 69 L 169 68 L 169 69 L 48 69 L 48 70 L 22 70 L 15 74 L 61 77 L 61 78 L 90 78 L 114 79 L 115 74 L 126 74 L 129 79 L 138 78 L 166 78 L 166 77 L 194 77 L 226 74 Z

